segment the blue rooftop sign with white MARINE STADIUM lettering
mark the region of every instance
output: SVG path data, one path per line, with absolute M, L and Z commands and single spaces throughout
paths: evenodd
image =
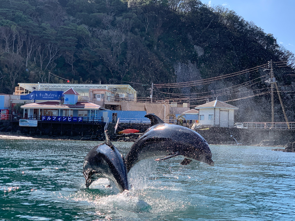
M 20 95 L 20 100 L 61 100 L 63 91 L 34 90 L 27 95 Z

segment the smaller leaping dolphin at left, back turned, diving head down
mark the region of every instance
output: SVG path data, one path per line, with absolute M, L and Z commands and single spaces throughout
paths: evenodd
M 126 164 L 122 154 L 112 144 L 106 131 L 104 133 L 106 142 L 91 149 L 84 159 L 85 185 L 89 187 L 94 180 L 107 178 L 112 180 L 122 193 L 125 189 L 129 189 Z

